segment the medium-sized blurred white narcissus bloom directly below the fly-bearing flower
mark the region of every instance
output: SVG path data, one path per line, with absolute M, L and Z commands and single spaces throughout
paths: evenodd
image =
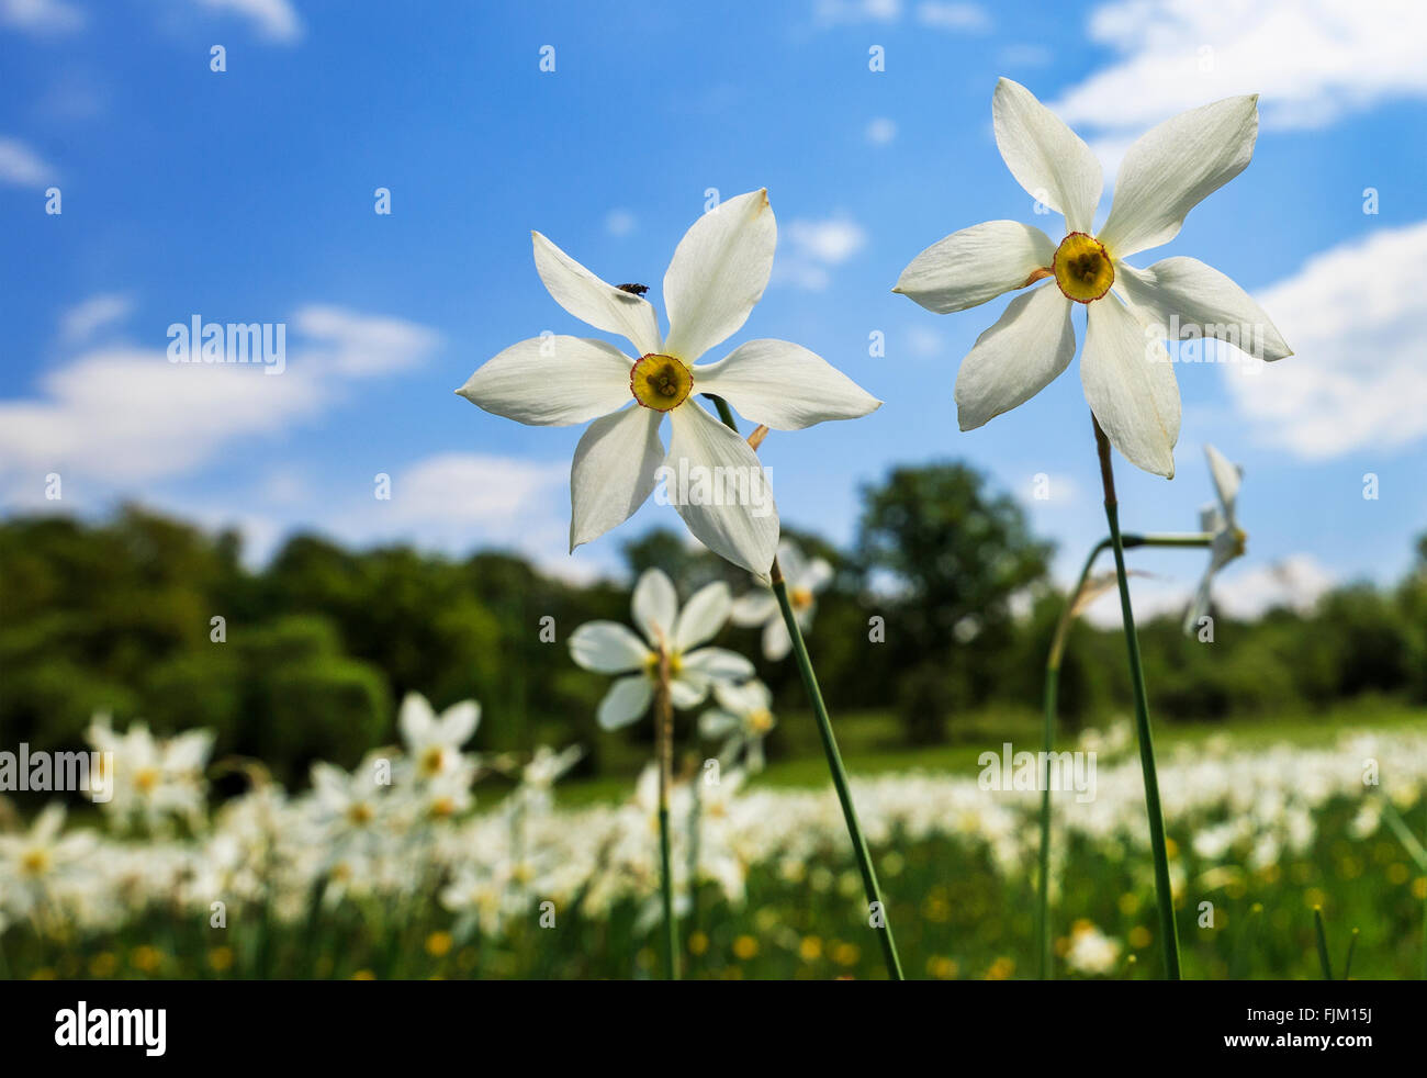
M 656 568 L 634 588 L 634 621 L 644 638 L 616 621 L 589 621 L 569 637 L 569 654 L 585 670 L 625 674 L 599 701 L 596 718 L 605 730 L 626 727 L 649 710 L 662 658 L 669 663 L 669 700 L 676 708 L 698 707 L 718 681 L 743 681 L 753 664 L 725 648 L 701 648 L 728 621 L 733 601 L 728 584 L 701 588 L 679 610 L 669 578 Z

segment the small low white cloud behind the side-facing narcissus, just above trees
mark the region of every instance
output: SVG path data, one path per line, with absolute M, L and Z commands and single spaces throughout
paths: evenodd
M 1203 565 L 1196 565 L 1193 571 L 1202 570 Z M 1134 620 L 1143 623 L 1162 614 L 1182 617 L 1189 608 L 1197 583 L 1197 577 L 1193 581 L 1167 580 L 1159 575 L 1134 577 L 1130 581 Z M 1336 583 L 1333 574 L 1311 554 L 1290 554 L 1267 565 L 1244 563 L 1230 565 L 1214 578 L 1213 601 L 1220 613 L 1246 621 L 1283 607 L 1307 614 Z M 1119 591 L 1109 588 L 1090 603 L 1085 617 L 1100 628 L 1117 628 Z

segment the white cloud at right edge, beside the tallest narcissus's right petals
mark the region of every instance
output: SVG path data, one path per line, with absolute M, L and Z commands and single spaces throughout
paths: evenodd
M 1226 384 L 1260 441 L 1324 458 L 1427 437 L 1427 221 L 1313 256 L 1254 298 L 1296 356 Z

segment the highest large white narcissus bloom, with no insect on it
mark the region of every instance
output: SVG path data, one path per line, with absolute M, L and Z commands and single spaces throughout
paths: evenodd
M 1163 341 L 1227 340 L 1263 360 L 1293 353 L 1249 294 L 1194 258 L 1139 270 L 1123 261 L 1169 243 L 1184 216 L 1247 167 L 1259 134 L 1259 97 L 1226 97 L 1166 120 L 1124 154 L 1114 204 L 1092 234 L 1100 163 L 1026 87 L 1002 79 L 992 99 L 996 146 L 1039 203 L 1063 213 L 1059 243 L 1019 221 L 952 233 L 912 260 L 895 291 L 938 314 L 1002 293 L 1017 296 L 976 338 L 956 376 L 962 430 L 1025 404 L 1075 357 L 1070 311 L 1086 307 L 1080 381 L 1090 410 L 1120 453 L 1146 471 L 1174 475 L 1179 384 Z

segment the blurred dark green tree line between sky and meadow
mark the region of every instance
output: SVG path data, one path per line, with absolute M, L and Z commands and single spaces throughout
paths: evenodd
M 909 744 L 932 744 L 955 737 L 959 715 L 1039 705 L 1065 604 L 1053 545 L 975 468 L 893 468 L 862 491 L 846 550 L 785 534 L 833 567 L 809 647 L 839 710 L 893 711 Z M 659 567 L 682 594 L 711 580 L 752 587 L 681 533 L 622 550 L 631 578 Z M 98 523 L 14 517 L 0 523 L 0 741 L 73 748 L 108 711 L 157 732 L 211 727 L 220 755 L 294 781 L 311 760 L 352 764 L 392 741 L 395 705 L 418 691 L 437 707 L 481 701 L 484 751 L 591 744 L 606 680 L 578 670 L 565 640 L 584 621 L 628 621 L 628 604 L 625 581 L 572 584 L 502 551 L 355 551 L 298 534 L 248 568 L 237 533 L 137 505 Z M 1364 692 L 1427 702 L 1427 535 L 1394 587 L 1349 584 L 1311 613 L 1251 623 L 1216 611 L 1213 644 L 1186 637 L 1179 617 L 1140 637 L 1162 721 L 1309 712 Z M 803 708 L 791 661 L 765 661 L 756 630 L 729 627 L 719 643 L 755 658 L 779 710 Z M 1127 707 L 1119 634 L 1079 623 L 1060 684 L 1072 725 Z

